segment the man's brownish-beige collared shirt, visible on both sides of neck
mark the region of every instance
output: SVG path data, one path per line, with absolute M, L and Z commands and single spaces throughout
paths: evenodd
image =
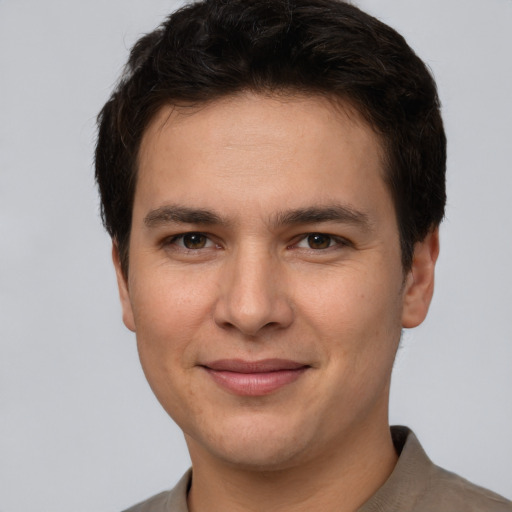
M 512 512 L 512 502 L 445 471 L 427 457 L 406 427 L 391 427 L 398 463 L 358 512 Z M 125 512 L 188 512 L 189 470 L 171 491 Z

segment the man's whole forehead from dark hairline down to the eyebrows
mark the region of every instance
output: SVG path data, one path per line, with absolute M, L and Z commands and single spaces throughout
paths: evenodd
M 350 203 L 350 191 L 383 189 L 382 156 L 379 137 L 350 104 L 321 96 L 243 93 L 165 106 L 142 140 L 134 207 L 220 198 L 224 209 Z

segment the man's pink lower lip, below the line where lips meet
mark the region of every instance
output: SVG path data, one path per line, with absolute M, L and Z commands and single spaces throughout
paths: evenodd
M 238 373 L 206 368 L 222 388 L 239 396 L 264 396 L 295 382 L 307 367 L 262 373 Z

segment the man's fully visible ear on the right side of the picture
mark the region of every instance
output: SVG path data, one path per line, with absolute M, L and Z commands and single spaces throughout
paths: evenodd
M 414 246 L 412 267 L 404 289 L 402 327 L 417 327 L 427 316 L 434 293 L 434 270 L 439 256 L 439 229 Z

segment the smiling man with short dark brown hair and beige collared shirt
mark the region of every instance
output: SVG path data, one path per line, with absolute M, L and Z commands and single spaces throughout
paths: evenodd
M 400 35 L 337 0 L 191 4 L 99 124 L 123 320 L 192 460 L 130 510 L 512 510 L 389 427 L 445 204 L 435 84 Z

